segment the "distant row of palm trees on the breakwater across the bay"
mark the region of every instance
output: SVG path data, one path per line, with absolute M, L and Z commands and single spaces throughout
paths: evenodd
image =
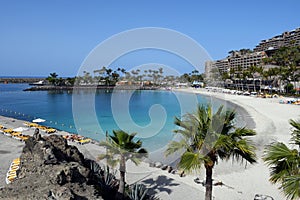
M 164 75 L 163 68 L 158 70 L 147 69 L 141 71 L 140 69 L 126 71 L 124 68 L 102 67 L 94 70 L 93 73 L 83 71 L 81 76 L 72 78 L 58 78 L 57 73 L 50 73 L 46 80 L 54 86 L 73 86 L 73 85 L 104 85 L 115 86 L 118 81 L 128 81 L 131 83 L 142 84 L 148 82 L 153 85 L 168 85 L 173 86 L 179 82 L 203 81 L 203 75 L 198 70 L 193 70 L 191 73 L 184 73 L 181 76 Z

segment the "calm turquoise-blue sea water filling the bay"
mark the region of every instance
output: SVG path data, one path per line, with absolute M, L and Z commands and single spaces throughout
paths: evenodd
M 27 84 L 0 84 L 0 114 L 78 133 L 96 140 L 105 132 L 138 132 L 150 150 L 164 147 L 173 137 L 174 116 L 192 112 L 207 97 L 172 91 L 34 91 Z M 213 106 L 224 102 L 214 101 Z

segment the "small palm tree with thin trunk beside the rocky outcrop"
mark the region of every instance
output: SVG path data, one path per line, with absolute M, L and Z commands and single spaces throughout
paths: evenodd
M 107 135 L 106 141 L 100 142 L 100 146 L 107 149 L 106 154 L 99 155 L 99 159 L 107 159 L 107 164 L 115 167 L 119 163 L 120 184 L 118 192 L 124 195 L 126 161 L 131 160 L 138 165 L 141 159 L 147 157 L 146 149 L 141 148 L 140 140 L 134 141 L 136 133 L 128 134 L 122 130 L 113 131 L 113 135 Z

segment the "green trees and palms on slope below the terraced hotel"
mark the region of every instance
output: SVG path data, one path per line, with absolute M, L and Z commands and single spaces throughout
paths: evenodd
M 243 50 L 242 53 L 247 53 L 246 50 Z M 236 51 L 229 52 L 232 55 Z M 284 86 L 284 93 L 295 93 L 295 90 L 288 90 L 291 82 L 297 82 L 300 78 L 299 65 L 300 65 L 300 46 L 292 47 L 281 47 L 276 50 L 271 56 L 264 58 L 262 65 L 273 65 L 277 67 L 272 68 L 263 68 L 262 66 L 250 66 L 249 68 L 243 69 L 238 67 L 237 69 L 231 68 L 229 72 L 222 74 L 223 80 L 239 80 L 242 82 L 241 85 L 247 80 L 253 80 L 251 82 L 253 89 L 255 90 L 255 81 L 254 79 L 259 80 L 259 88 L 261 84 L 264 83 L 267 86 L 279 87 Z M 249 85 L 249 84 L 248 84 Z M 238 86 L 236 84 L 236 88 Z M 242 88 L 244 89 L 244 88 Z

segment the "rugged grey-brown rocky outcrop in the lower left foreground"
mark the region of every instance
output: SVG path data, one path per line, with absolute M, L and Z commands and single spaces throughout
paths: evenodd
M 0 199 L 102 199 L 88 160 L 58 135 L 26 141 L 18 179 L 0 189 Z

